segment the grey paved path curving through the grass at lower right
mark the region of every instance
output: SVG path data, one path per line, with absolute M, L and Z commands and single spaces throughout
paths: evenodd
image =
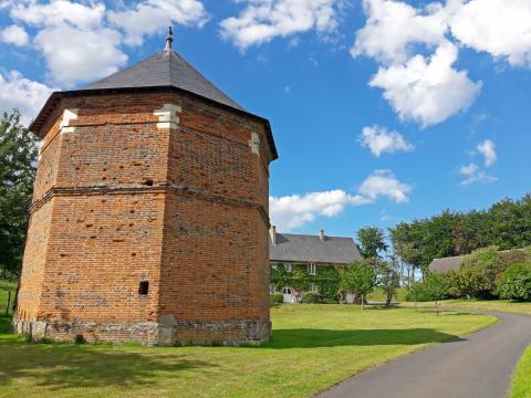
M 354 376 L 320 397 L 503 398 L 518 359 L 531 344 L 531 316 L 489 314 L 500 322 Z

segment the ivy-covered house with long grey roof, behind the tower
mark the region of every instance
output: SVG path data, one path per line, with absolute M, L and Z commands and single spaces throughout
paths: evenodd
M 271 266 L 270 293 L 282 293 L 284 303 L 300 302 L 303 292 L 322 293 L 335 296 L 336 287 L 324 292 L 325 283 L 336 275 L 336 268 L 344 266 L 362 256 L 352 238 L 329 237 L 323 230 L 316 235 L 279 233 L 273 226 L 270 229 L 269 263 Z M 308 285 L 295 289 L 279 285 L 275 274 L 304 273 Z M 330 281 L 329 281 L 330 282 Z M 320 284 L 322 289 L 320 291 Z

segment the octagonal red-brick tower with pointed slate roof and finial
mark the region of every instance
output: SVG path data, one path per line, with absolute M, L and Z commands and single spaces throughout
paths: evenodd
M 55 92 L 13 326 L 33 338 L 259 344 L 269 320 L 269 122 L 166 49 Z

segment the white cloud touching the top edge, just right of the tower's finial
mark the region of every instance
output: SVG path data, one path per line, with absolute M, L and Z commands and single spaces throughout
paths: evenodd
M 244 50 L 277 36 L 290 36 L 315 29 L 326 34 L 337 28 L 344 0 L 247 0 L 238 17 L 221 21 L 221 36 Z

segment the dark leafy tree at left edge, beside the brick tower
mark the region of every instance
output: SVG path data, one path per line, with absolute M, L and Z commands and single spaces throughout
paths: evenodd
M 0 119 L 0 276 L 20 275 L 33 191 L 37 140 L 20 113 Z

